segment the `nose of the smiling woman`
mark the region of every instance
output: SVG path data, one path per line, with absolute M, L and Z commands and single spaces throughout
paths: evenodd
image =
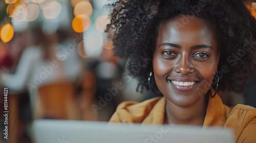
M 174 70 L 176 73 L 181 73 L 182 75 L 195 72 L 195 68 L 193 64 L 191 64 L 191 61 L 188 59 L 188 56 L 180 56 L 177 61 L 177 66 Z

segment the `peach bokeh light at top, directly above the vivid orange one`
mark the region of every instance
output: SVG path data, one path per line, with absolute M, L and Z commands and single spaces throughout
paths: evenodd
M 93 7 L 89 2 L 80 2 L 74 8 L 74 15 L 88 15 L 90 16 L 93 12 Z

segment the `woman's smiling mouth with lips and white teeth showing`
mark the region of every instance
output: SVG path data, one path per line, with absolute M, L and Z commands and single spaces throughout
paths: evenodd
M 190 91 L 195 89 L 196 85 L 199 82 L 196 81 L 174 81 L 174 80 L 168 80 L 170 82 L 170 84 L 172 84 L 175 89 L 179 90 L 179 91 Z

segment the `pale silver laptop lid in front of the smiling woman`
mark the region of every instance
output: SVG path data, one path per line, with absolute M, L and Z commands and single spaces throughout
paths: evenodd
M 230 129 L 217 127 L 37 120 L 33 123 L 33 132 L 36 143 L 234 142 Z

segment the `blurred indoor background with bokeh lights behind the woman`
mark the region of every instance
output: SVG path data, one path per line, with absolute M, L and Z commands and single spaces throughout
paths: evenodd
M 31 123 L 39 118 L 108 121 L 120 102 L 156 97 L 136 92 L 127 59 L 114 57 L 104 34 L 108 3 L 113 1 L 0 1 L 0 112 L 8 87 L 8 142 L 33 142 Z M 244 93 L 220 93 L 223 101 L 255 107 L 255 77 Z

